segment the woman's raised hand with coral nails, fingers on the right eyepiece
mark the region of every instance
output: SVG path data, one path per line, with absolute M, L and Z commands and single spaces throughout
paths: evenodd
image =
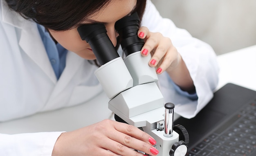
M 170 38 L 164 37 L 161 33 L 152 33 L 144 26 L 139 29 L 138 37 L 145 40 L 141 55 L 151 54 L 152 58 L 148 64 L 151 67 L 156 67 L 157 74 L 166 70 L 174 83 L 182 90 L 194 91 L 195 87 L 189 70 Z

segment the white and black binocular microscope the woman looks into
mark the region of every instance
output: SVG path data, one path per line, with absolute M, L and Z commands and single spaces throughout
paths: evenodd
M 85 24 L 77 30 L 101 65 L 94 74 L 110 99 L 108 108 L 115 113 L 115 119 L 155 138 L 159 156 L 185 156 L 189 134 L 182 125 L 173 125 L 174 104 L 164 104 L 155 68 L 148 66 L 151 57 L 141 56 L 144 40 L 137 36 L 139 22 L 137 13 L 133 13 L 115 23 L 124 59 L 103 24 Z

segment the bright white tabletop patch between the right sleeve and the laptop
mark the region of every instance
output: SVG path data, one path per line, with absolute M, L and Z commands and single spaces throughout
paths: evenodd
M 256 45 L 218 56 L 220 66 L 217 89 L 226 83 L 256 90 Z

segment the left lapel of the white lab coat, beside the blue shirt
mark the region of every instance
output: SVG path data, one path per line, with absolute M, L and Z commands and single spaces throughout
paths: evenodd
M 49 62 L 36 23 L 25 20 L 21 15 L 9 9 L 4 0 L 1 0 L 1 5 L 3 22 L 18 28 L 16 31 L 20 31 L 20 38 L 17 37 L 17 39 L 22 50 L 43 70 L 53 83 L 56 83 L 56 75 Z

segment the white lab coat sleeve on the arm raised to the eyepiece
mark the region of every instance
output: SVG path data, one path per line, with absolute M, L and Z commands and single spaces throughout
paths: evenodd
M 191 100 L 175 91 L 166 73 L 159 75 L 160 89 L 165 101 L 175 104 L 174 111 L 177 114 L 189 119 L 194 117 L 211 100 L 213 90 L 218 84 L 219 67 L 216 54 L 209 44 L 192 37 L 188 31 L 177 28 L 170 19 L 162 18 L 150 0 L 147 1 L 141 26 L 169 37 L 182 56 L 198 99 Z

